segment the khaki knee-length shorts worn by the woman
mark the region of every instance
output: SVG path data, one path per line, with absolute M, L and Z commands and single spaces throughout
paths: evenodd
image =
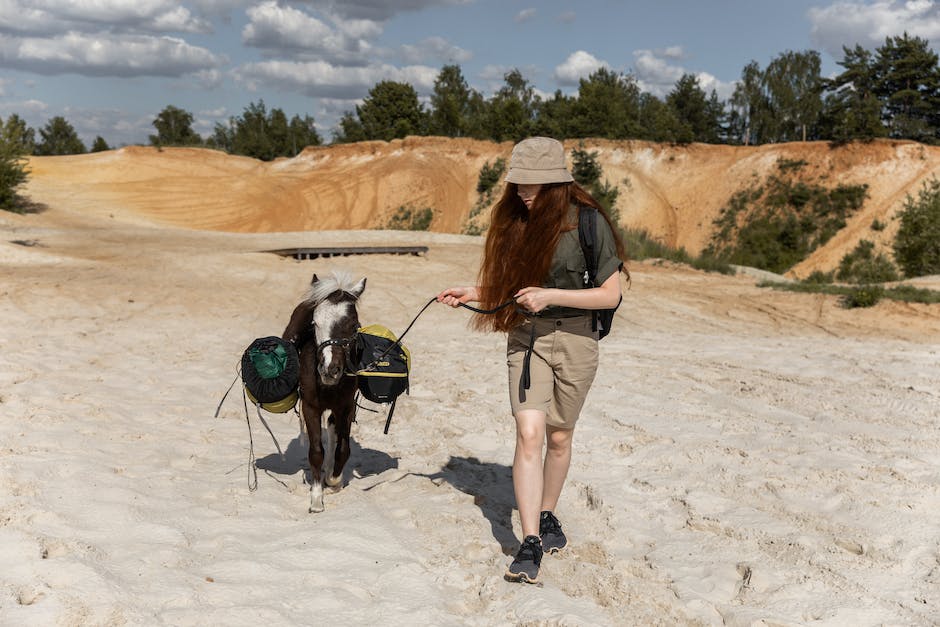
M 533 323 L 530 385 L 523 390 L 522 369 Z M 549 425 L 574 429 L 597 373 L 597 331 L 591 331 L 591 316 L 526 320 L 509 332 L 506 363 L 513 415 L 537 409 L 545 412 Z

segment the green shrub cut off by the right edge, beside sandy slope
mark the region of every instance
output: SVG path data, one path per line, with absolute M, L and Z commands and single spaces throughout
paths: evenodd
M 916 200 L 908 196 L 899 217 L 894 258 L 905 276 L 940 274 L 940 181 L 925 183 Z

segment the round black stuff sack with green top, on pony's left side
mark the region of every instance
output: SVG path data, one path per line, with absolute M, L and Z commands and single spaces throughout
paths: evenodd
M 297 349 L 279 337 L 256 339 L 242 353 L 242 382 L 252 403 L 277 414 L 290 411 L 300 384 Z

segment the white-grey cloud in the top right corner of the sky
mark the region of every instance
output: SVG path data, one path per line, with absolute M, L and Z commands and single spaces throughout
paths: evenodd
M 842 46 L 873 49 L 887 37 L 905 32 L 928 40 L 940 38 L 940 5 L 932 0 L 835 2 L 812 8 L 807 15 L 813 44 L 836 59 L 843 56 Z

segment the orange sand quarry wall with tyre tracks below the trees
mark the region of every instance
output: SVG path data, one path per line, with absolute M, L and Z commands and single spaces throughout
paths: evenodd
M 893 218 L 906 197 L 940 171 L 940 148 L 901 141 L 840 147 L 566 142 L 569 151 L 578 147 L 596 151 L 604 177 L 620 188 L 625 226 L 693 253 L 708 244 L 729 198 L 778 171 L 780 160 L 805 161 L 804 173 L 826 186 L 868 185 L 862 210 L 793 269 L 797 276 L 831 270 L 860 239 L 889 250 L 898 227 Z M 81 213 L 234 232 L 373 229 L 399 207 L 430 207 L 431 230 L 459 233 L 478 200 L 480 169 L 508 160 L 511 150 L 511 142 L 409 137 L 311 147 L 266 163 L 198 148 L 133 146 L 33 157 L 26 193 Z M 876 219 L 887 228 L 873 230 Z

